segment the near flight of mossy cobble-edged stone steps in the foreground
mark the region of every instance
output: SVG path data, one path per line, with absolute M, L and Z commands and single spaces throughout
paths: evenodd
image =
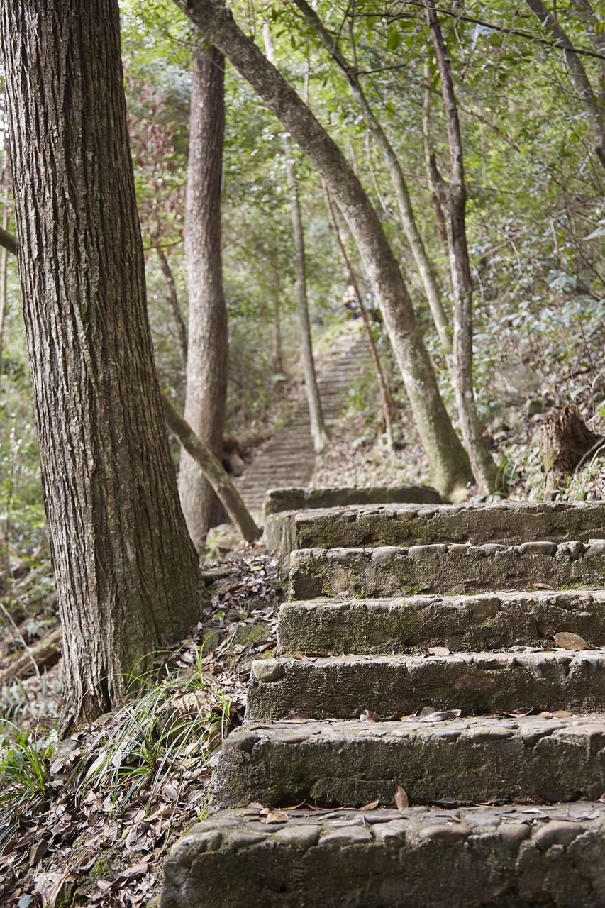
M 278 654 L 163 908 L 602 908 L 605 505 L 273 520 Z

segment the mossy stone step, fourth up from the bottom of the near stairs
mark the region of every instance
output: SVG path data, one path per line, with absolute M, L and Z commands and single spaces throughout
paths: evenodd
M 605 646 L 605 591 L 287 602 L 280 608 L 277 651 L 340 656 L 403 654 L 428 646 L 553 646 L 561 631 Z

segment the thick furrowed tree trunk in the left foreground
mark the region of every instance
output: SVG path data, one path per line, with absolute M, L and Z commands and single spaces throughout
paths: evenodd
M 117 2 L 11 0 L 0 23 L 71 724 L 187 631 L 200 577 L 147 321 Z

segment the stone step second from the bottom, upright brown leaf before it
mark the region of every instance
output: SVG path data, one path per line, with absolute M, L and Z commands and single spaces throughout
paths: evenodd
M 605 716 L 243 725 L 223 743 L 211 811 L 251 801 L 362 807 L 597 800 Z

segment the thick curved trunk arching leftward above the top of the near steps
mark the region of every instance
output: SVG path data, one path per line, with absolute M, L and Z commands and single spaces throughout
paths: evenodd
M 380 303 L 412 413 L 441 495 L 464 494 L 469 462 L 441 400 L 412 301 L 359 178 L 309 108 L 217 0 L 175 0 L 261 95 L 322 175 L 341 209 Z

